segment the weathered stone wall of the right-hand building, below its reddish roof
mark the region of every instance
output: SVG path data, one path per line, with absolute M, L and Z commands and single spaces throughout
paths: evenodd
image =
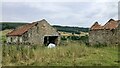
M 90 45 L 96 44 L 119 44 L 120 43 L 120 30 L 91 30 L 89 32 L 89 43 Z

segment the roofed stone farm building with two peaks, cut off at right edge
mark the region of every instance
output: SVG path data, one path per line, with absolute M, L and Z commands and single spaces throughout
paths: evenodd
M 120 20 L 110 19 L 104 26 L 95 22 L 89 31 L 90 45 L 120 44 Z

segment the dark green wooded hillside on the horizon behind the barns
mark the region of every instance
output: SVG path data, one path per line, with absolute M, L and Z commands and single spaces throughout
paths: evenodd
M 25 25 L 27 23 L 16 23 L 16 22 L 0 22 L 0 26 L 2 26 L 2 29 L 15 29 L 16 27 Z M 76 33 L 79 34 L 80 32 L 88 32 L 89 28 L 83 28 L 83 27 L 70 27 L 70 26 L 59 26 L 59 25 L 53 25 L 54 28 L 56 28 L 58 31 L 62 32 L 69 32 L 69 33 Z

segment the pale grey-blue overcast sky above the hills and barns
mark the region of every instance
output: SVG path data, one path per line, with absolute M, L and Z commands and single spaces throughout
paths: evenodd
M 96 21 L 103 25 L 111 18 L 117 20 L 118 1 L 99 1 L 3 0 L 0 21 L 31 23 L 46 19 L 52 25 L 90 27 Z

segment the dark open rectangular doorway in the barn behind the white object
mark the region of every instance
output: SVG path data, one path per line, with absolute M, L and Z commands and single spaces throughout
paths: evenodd
M 44 36 L 44 45 L 48 46 L 49 43 L 57 45 L 58 36 Z

